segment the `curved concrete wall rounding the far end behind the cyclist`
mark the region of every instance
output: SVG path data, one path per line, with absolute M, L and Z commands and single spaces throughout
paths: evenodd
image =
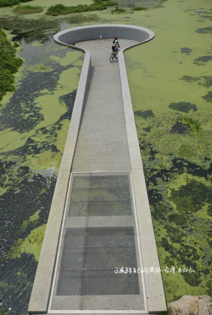
M 54 36 L 56 42 L 72 45 L 73 43 L 84 42 L 87 40 L 114 38 L 132 39 L 140 43 L 154 37 L 154 33 L 146 28 L 122 25 L 122 24 L 106 24 L 106 25 L 90 25 L 70 28 L 61 31 Z

